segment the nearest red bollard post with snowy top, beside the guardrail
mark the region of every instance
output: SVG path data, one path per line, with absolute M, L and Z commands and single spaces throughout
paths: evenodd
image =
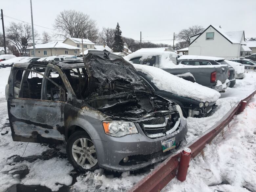
M 181 160 L 180 160 L 178 174 L 177 174 L 177 179 L 181 182 L 186 180 L 190 156 L 191 156 L 191 150 L 187 147 L 184 148 L 184 150 L 181 153 Z

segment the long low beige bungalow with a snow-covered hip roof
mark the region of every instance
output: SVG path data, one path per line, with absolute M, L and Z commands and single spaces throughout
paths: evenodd
M 33 46 L 27 48 L 30 56 L 34 56 Z M 35 45 L 35 56 L 37 57 L 48 57 L 58 55 L 77 55 L 82 49 L 74 46 L 67 45 L 58 41 L 36 44 Z

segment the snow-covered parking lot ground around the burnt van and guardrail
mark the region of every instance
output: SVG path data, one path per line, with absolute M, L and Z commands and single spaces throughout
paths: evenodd
M 0 191 L 28 187 L 37 191 L 126 191 L 150 172 L 113 173 L 103 169 L 76 173 L 66 157 L 65 145 L 14 142 L 8 120 L 5 85 L 9 68 L 0 69 Z M 245 73 L 217 100 L 210 117 L 187 118 L 182 146 L 200 137 L 238 101 L 256 90 L 256 73 Z M 190 163 L 187 180 L 173 179 L 162 191 L 256 191 L 256 96 L 203 152 Z M 155 165 L 157 166 L 157 165 Z M 28 185 L 28 186 L 27 186 Z M 40 185 L 40 187 L 38 187 Z M 44 187 L 43 187 L 44 186 Z

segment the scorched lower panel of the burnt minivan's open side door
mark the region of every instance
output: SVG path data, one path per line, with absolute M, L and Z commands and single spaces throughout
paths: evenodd
M 28 78 L 23 74 L 20 88 Z M 48 78 L 45 77 L 44 78 Z M 43 89 L 43 84 L 42 84 Z M 42 92 L 41 89 L 41 92 Z M 63 101 L 8 98 L 8 115 L 14 141 L 59 143 L 65 140 Z

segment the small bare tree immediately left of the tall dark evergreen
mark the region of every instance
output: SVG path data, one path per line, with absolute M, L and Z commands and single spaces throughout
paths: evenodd
M 114 45 L 115 29 L 103 27 L 99 33 L 99 43 L 109 46 L 111 49 Z

